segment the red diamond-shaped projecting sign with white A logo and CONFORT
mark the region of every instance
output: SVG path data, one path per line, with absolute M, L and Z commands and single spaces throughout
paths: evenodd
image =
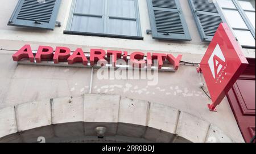
M 228 25 L 221 23 L 200 63 L 212 97 L 212 104 L 208 104 L 211 111 L 216 111 L 216 106 L 224 99 L 247 65 L 241 45 Z

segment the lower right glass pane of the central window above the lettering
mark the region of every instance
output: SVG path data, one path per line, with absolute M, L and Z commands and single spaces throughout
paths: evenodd
M 109 19 L 108 33 L 137 36 L 137 23 L 134 20 Z

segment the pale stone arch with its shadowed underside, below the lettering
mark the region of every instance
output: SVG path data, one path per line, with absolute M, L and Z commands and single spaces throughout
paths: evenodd
M 104 140 L 96 127 L 105 127 Z M 0 142 L 233 142 L 205 119 L 156 102 L 89 94 L 0 109 Z

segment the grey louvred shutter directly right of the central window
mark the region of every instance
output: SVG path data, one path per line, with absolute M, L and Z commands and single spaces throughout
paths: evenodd
M 147 0 L 152 37 L 191 41 L 179 0 Z

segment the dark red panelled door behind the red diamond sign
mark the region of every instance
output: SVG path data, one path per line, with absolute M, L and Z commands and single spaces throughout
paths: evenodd
M 255 59 L 249 60 L 248 69 L 227 93 L 245 142 L 255 135 Z

